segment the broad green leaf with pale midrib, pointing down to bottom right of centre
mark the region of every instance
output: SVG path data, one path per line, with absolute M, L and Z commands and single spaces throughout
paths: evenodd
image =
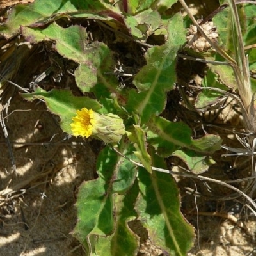
M 152 164 L 166 168 L 164 160 L 151 154 Z M 185 256 L 193 245 L 194 231 L 180 213 L 180 196 L 171 175 L 139 169 L 140 194 L 136 202 L 139 220 L 153 244 L 170 255 Z

